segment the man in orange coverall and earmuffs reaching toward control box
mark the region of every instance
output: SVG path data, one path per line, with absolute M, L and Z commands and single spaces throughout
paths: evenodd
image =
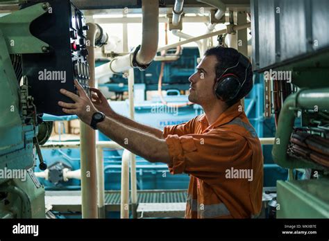
M 253 87 L 251 64 L 234 48 L 215 47 L 196 69 L 189 101 L 205 114 L 163 132 L 115 113 L 98 89 L 90 100 L 78 82 L 79 96 L 61 90 L 75 103 L 58 104 L 130 152 L 167 163 L 172 174 L 189 174 L 186 218 L 253 217 L 262 204 L 263 158 L 240 102 Z

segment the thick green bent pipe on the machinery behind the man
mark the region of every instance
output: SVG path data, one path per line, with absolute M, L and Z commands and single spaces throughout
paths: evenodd
M 292 93 L 283 103 L 278 118 L 276 141 L 273 145 L 272 156 L 274 161 L 282 168 L 316 168 L 314 163 L 305 163 L 287 155 L 290 136 L 296 118 L 295 111 L 298 109 L 318 110 L 329 109 L 329 89 L 302 89 Z

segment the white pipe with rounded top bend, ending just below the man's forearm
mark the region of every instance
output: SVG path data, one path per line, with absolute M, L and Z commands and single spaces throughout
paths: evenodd
M 124 150 L 121 161 L 121 204 L 120 217 L 129 218 L 129 161 L 131 152 Z

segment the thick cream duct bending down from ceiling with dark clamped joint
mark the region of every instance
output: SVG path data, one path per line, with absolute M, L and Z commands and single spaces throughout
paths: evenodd
M 133 53 L 116 57 L 110 64 L 102 64 L 96 70 L 96 79 L 121 73 L 136 67 L 146 69 L 156 55 L 159 33 L 159 2 L 153 0 L 142 1 L 142 44 Z

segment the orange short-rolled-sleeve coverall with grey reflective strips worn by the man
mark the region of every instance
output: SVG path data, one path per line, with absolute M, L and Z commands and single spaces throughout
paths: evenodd
M 190 176 L 185 218 L 251 218 L 260 213 L 262 148 L 241 102 L 226 109 L 212 125 L 203 114 L 165 127 L 163 136 L 171 174 Z M 228 175 L 232 170 L 235 174 L 251 170 L 252 181 Z

